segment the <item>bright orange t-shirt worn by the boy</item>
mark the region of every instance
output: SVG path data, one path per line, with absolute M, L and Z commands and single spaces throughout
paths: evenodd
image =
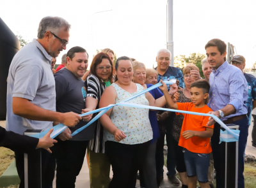
M 198 113 L 208 113 L 211 110 L 207 105 L 204 105 L 202 108 L 195 108 L 193 103 L 177 103 L 179 110 L 186 110 L 190 112 Z M 191 115 L 188 113 L 176 113 L 177 115 L 184 115 L 184 120 L 182 123 L 180 131 L 180 140 L 179 146 L 186 148 L 190 152 L 199 153 L 199 154 L 209 154 L 212 152 L 210 145 L 210 138 L 201 138 L 198 136 L 193 136 L 192 138 L 185 139 L 182 136 L 182 133 L 187 130 L 191 131 L 205 131 L 207 122 L 209 121 L 208 116 L 202 115 Z M 213 128 L 214 125 L 209 126 Z

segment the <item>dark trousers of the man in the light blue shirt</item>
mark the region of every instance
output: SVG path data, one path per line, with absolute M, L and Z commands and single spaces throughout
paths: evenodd
M 248 136 L 248 118 L 240 119 L 232 122 L 239 126 L 239 142 L 238 142 L 238 187 L 244 188 L 244 151 L 247 143 Z M 225 161 L 225 150 L 220 148 L 220 124 L 214 124 L 214 133 L 211 138 L 212 143 L 212 155 L 214 159 L 214 168 L 216 170 L 216 187 L 224 188 L 225 179 L 223 177 L 223 172 L 225 171 L 225 166 L 221 166 L 222 161 Z

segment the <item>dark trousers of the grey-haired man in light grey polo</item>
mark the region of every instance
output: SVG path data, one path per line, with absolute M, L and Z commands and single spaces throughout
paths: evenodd
M 24 153 L 15 152 L 16 168 L 20 178 L 20 188 L 24 188 Z M 47 150 L 42 149 L 42 188 L 52 188 L 55 159 Z

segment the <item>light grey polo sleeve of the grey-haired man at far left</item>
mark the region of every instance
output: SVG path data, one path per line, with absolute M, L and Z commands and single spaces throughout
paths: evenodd
M 20 64 L 15 71 L 13 97 L 33 101 L 42 80 L 42 69 L 37 65 Z

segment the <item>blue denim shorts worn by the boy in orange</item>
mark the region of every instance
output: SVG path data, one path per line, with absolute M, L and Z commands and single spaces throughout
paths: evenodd
M 207 183 L 210 154 L 193 153 L 186 148 L 183 148 L 183 152 L 188 177 L 197 176 L 199 183 Z

